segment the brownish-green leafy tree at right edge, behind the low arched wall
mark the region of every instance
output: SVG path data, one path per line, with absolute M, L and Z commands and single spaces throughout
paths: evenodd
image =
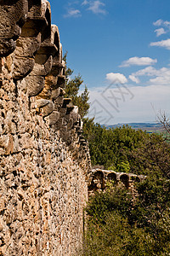
M 153 133 L 145 137 L 141 146 L 129 153 L 128 159 L 131 172 L 170 178 L 170 144 L 160 135 Z

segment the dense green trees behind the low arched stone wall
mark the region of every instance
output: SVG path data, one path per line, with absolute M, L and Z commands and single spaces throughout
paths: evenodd
M 83 131 L 94 166 L 144 175 L 154 172 L 170 178 L 170 144 L 161 135 L 129 126 L 108 130 L 89 119 L 84 121 Z

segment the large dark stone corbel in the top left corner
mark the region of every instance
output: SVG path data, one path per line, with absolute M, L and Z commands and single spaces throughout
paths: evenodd
M 16 48 L 16 39 L 20 37 L 21 27 L 26 22 L 27 0 L 0 1 L 0 56 L 11 54 Z

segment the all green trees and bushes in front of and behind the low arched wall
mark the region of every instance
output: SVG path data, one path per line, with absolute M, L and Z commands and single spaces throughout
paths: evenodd
M 105 129 L 84 122 L 93 165 L 147 175 L 135 196 L 108 183 L 88 202 L 83 255 L 170 255 L 170 144 L 129 126 Z

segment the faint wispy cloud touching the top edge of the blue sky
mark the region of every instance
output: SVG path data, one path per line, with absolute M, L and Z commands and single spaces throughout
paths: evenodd
M 82 5 L 87 5 L 88 6 L 88 10 L 92 11 L 95 15 L 98 14 L 102 14 L 105 15 L 106 14 L 106 10 L 105 10 L 105 3 L 97 0 L 97 1 L 88 1 L 88 0 L 84 0 L 82 2 Z

